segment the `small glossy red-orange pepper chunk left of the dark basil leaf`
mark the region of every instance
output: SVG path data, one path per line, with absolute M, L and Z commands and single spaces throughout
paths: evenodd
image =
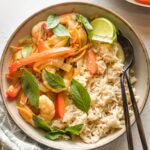
M 15 86 L 10 85 L 6 91 L 6 96 L 10 99 L 13 99 L 18 96 L 21 90 L 21 84 L 18 82 Z

